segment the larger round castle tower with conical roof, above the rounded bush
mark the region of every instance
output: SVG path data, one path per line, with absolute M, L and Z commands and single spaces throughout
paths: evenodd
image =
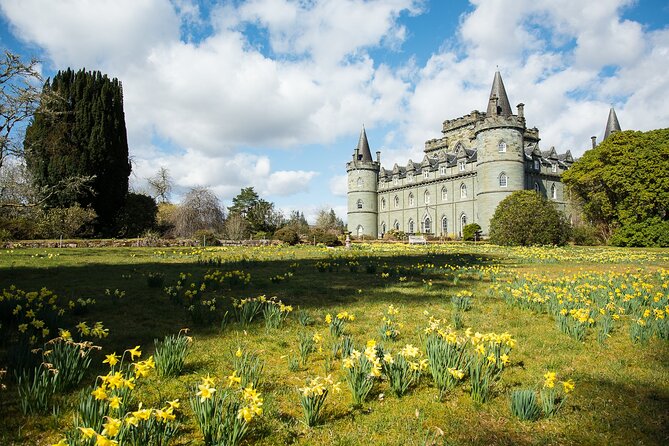
M 476 124 L 477 216 L 483 234 L 497 205 L 512 192 L 525 188 L 523 104 L 511 111 L 499 71 L 495 73 L 485 118 Z

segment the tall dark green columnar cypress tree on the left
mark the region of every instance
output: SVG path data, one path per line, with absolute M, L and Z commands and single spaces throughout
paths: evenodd
M 97 229 L 113 234 L 114 219 L 128 193 L 130 161 L 118 79 L 99 71 L 59 71 L 26 129 L 26 165 L 42 188 L 73 177 L 95 176 L 91 190 L 55 194 L 46 204 L 91 206 Z

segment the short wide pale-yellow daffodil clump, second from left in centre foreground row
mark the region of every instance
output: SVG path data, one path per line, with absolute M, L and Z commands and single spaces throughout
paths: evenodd
M 383 374 L 388 378 L 390 389 L 401 397 L 407 390 L 418 383 L 420 375 L 427 369 L 428 360 L 421 358 L 418 347 L 405 345 L 398 354 L 383 352 Z

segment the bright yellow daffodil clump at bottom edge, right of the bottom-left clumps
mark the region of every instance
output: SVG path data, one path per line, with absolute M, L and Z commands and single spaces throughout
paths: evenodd
M 263 398 L 253 385 L 241 387 L 239 377 L 228 377 L 228 387 L 207 376 L 196 385 L 191 407 L 207 446 L 236 446 L 249 426 L 263 414 Z

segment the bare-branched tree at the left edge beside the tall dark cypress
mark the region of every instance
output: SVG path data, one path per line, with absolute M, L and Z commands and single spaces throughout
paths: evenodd
M 38 63 L 36 59 L 23 62 L 9 51 L 0 60 L 0 169 L 8 157 L 23 155 L 23 124 L 33 116 L 40 99 Z

